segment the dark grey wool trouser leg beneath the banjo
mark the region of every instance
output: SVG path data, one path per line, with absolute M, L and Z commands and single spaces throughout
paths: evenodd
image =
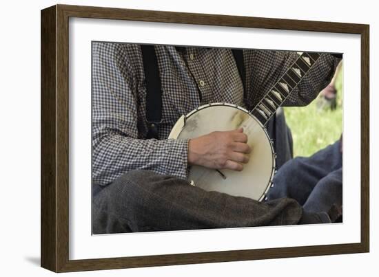
M 92 233 L 292 225 L 302 213 L 293 199 L 260 203 L 207 192 L 150 170 L 134 170 L 94 191 Z

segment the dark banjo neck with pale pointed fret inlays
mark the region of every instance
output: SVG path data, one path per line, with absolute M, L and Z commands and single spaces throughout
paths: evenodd
M 269 89 L 265 96 L 250 111 L 265 126 L 282 106 L 298 83 L 320 57 L 318 53 L 298 52 L 299 56 L 289 69 L 281 76 L 276 84 Z

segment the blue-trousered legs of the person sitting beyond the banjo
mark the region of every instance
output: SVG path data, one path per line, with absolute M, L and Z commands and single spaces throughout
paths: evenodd
M 296 199 L 307 212 L 342 207 L 342 136 L 311 157 L 296 157 L 284 164 L 267 200 L 281 197 Z

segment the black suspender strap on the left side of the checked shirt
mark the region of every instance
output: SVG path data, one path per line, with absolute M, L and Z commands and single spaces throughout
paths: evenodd
M 162 91 L 154 45 L 141 45 L 146 82 L 147 139 L 158 139 L 162 120 Z

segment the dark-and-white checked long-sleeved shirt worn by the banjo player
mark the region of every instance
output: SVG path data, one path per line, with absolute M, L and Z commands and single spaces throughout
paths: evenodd
M 141 47 L 92 43 L 92 181 L 104 186 L 130 170 L 187 177 L 188 140 L 167 140 L 176 120 L 202 104 L 229 102 L 252 109 L 296 60 L 296 52 L 244 50 L 246 91 L 232 51 L 156 45 L 162 83 L 160 140 L 145 140 L 145 74 Z M 338 60 L 322 54 L 286 105 L 316 98 Z M 215 119 L 216 120 L 216 119 Z

